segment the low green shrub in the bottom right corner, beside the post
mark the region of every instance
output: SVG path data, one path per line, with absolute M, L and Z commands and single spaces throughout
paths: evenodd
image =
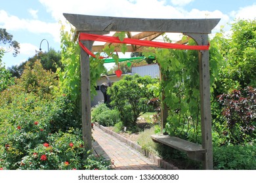
M 255 170 L 255 152 L 255 145 L 213 147 L 213 169 Z

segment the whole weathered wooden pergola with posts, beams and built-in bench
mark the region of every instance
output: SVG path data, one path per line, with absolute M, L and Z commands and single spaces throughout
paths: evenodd
M 151 41 L 163 33 L 182 33 L 194 39 L 198 45 L 208 44 L 208 34 L 219 23 L 220 19 L 152 19 L 152 18 L 117 18 L 109 16 L 89 16 L 81 14 L 66 14 L 65 18 L 77 30 L 77 33 L 93 33 L 98 35 L 109 34 L 110 31 L 125 31 L 134 39 L 147 39 Z M 132 36 L 130 32 L 140 32 Z M 81 41 L 93 52 L 102 52 L 104 46 L 93 46 L 94 41 Z M 182 44 L 182 42 L 181 42 Z M 117 46 L 117 45 L 114 45 Z M 130 45 L 127 52 L 140 52 L 141 46 Z M 118 51 L 118 46 L 117 49 Z M 211 137 L 211 102 L 209 77 L 209 50 L 200 50 L 200 103 L 202 145 L 184 141 L 177 137 L 154 135 L 152 139 L 167 144 L 188 154 L 189 158 L 203 161 L 204 169 L 213 169 L 213 147 Z M 87 148 L 92 148 L 91 137 L 91 84 L 89 55 L 81 48 L 81 105 L 83 141 Z M 162 128 L 167 118 L 167 110 L 161 107 Z

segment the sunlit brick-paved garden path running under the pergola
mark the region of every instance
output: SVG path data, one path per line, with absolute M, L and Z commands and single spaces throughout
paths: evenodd
M 160 170 L 153 161 L 146 158 L 125 143 L 117 140 L 102 129 L 94 127 L 93 147 L 96 154 L 114 162 L 116 170 Z

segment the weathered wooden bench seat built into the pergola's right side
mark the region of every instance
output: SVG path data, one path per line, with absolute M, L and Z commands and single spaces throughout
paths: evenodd
M 188 158 L 196 161 L 203 161 L 203 156 L 205 152 L 207 152 L 207 150 L 202 148 L 201 144 L 185 141 L 178 137 L 170 137 L 169 135 L 151 135 L 151 138 L 154 142 L 165 144 L 171 148 L 186 152 Z

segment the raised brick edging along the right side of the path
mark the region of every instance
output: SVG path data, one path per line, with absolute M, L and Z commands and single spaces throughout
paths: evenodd
M 119 135 L 118 133 L 116 133 L 114 131 L 111 131 L 110 129 L 106 129 L 106 127 L 104 127 L 104 126 L 102 126 L 98 123 L 95 123 L 95 125 L 96 125 L 96 127 L 99 127 L 100 129 L 102 129 L 102 131 L 104 131 L 105 133 L 108 133 L 108 134 L 112 135 L 113 137 L 116 137 L 116 139 L 118 139 L 119 141 L 124 142 L 125 144 L 127 144 L 131 148 L 137 150 L 138 152 L 140 152 L 141 154 L 143 154 L 147 158 L 152 159 L 152 161 L 154 161 L 154 163 L 156 163 L 162 169 L 165 169 L 165 170 L 179 170 L 177 167 L 175 167 L 175 165 L 161 159 L 160 157 L 158 157 L 154 154 L 151 154 L 150 152 L 148 152 L 148 150 L 143 150 L 142 147 L 139 146 L 139 144 L 135 144 L 135 142 L 126 139 L 125 137 Z

